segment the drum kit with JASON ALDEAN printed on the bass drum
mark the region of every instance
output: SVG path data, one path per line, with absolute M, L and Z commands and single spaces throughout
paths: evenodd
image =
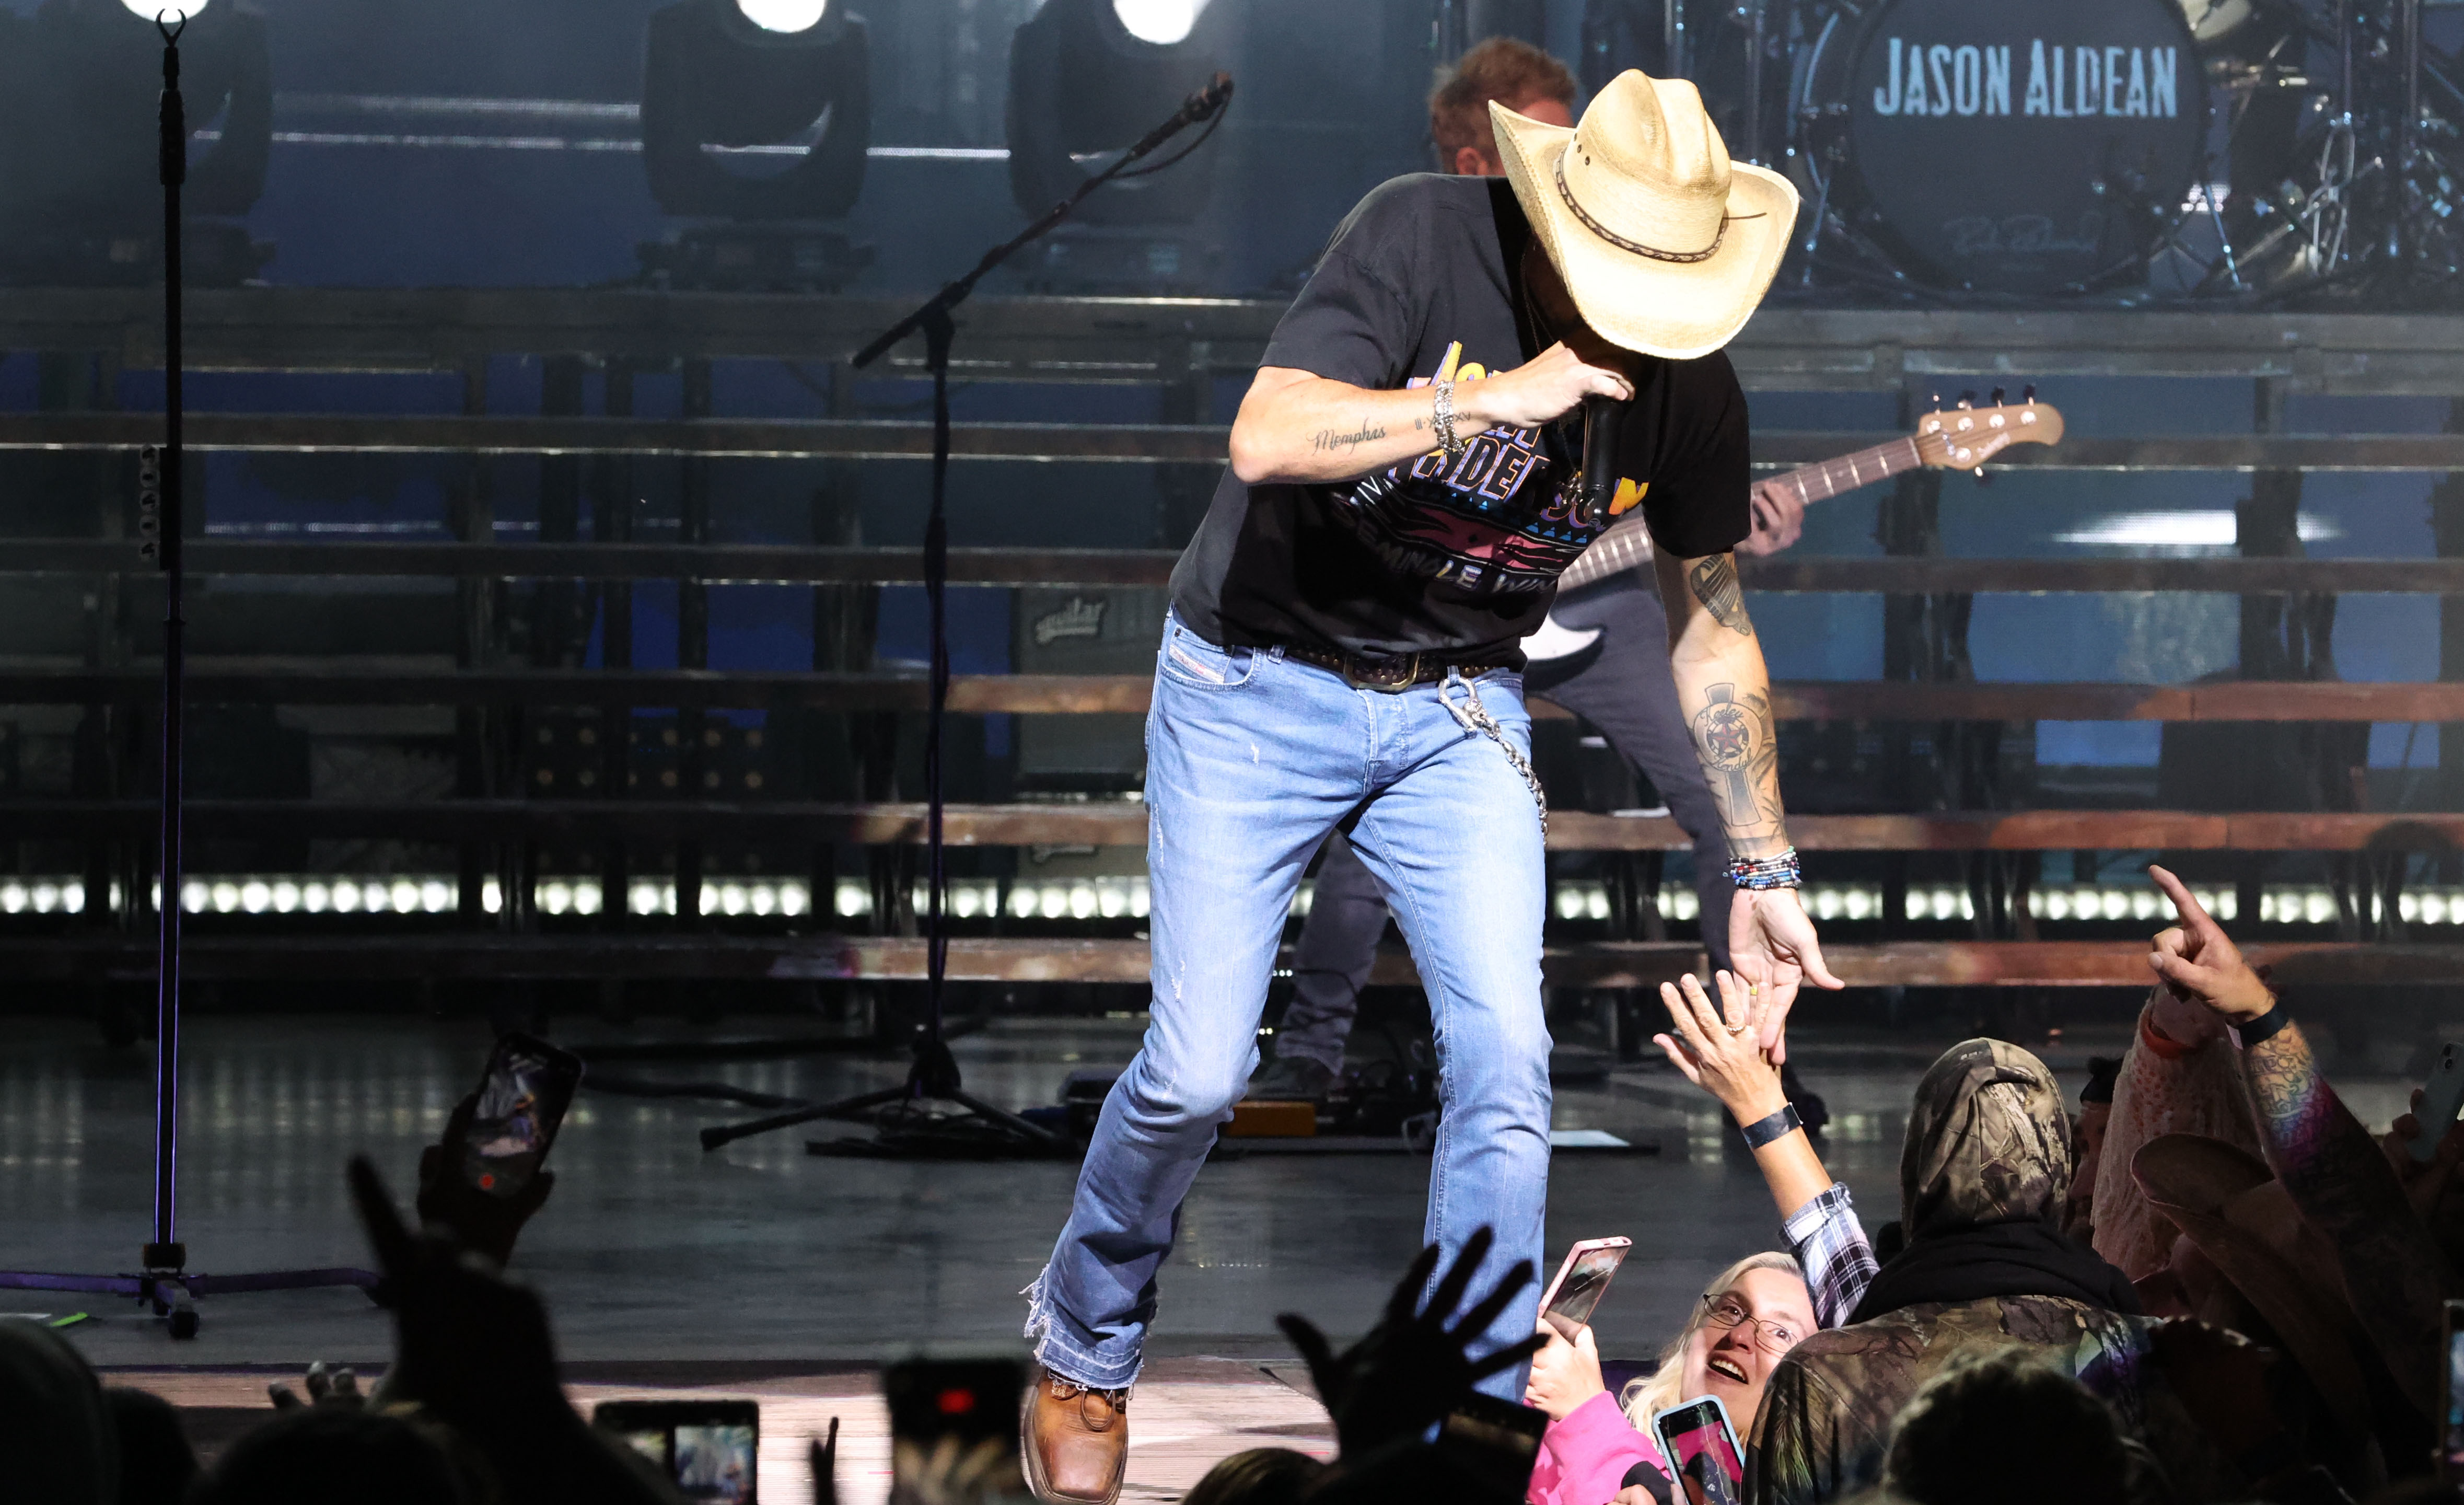
M 2425 0 L 1717 2 L 1688 25 L 1666 0 L 1648 62 L 1703 86 L 1737 155 L 1796 177 L 1781 288 L 2412 308 L 2464 291 L 2464 91 L 2422 37 Z

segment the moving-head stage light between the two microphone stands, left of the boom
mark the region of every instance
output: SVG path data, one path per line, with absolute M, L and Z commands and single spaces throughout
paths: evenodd
M 641 145 L 660 209 L 724 222 L 641 249 L 670 286 L 833 291 L 872 261 L 825 224 L 865 187 L 862 17 L 825 0 L 683 0 L 650 12 Z

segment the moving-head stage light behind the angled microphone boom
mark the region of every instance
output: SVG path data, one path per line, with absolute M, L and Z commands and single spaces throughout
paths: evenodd
M 1042 214 L 1170 118 L 1220 67 L 1232 7 L 1202 0 L 1047 0 L 1010 37 L 1010 197 Z M 1205 131 L 1200 126 L 1200 131 Z M 1193 148 L 1185 135 L 1153 163 Z M 1040 291 L 1195 291 L 1220 251 L 1190 227 L 1215 192 L 1215 145 L 1119 177 L 1023 256 Z

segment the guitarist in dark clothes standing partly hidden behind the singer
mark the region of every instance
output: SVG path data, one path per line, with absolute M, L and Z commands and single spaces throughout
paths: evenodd
M 1488 101 L 1518 116 L 1572 126 L 1574 76 L 1555 57 L 1513 37 L 1491 37 L 1466 52 L 1429 96 L 1429 135 L 1446 172 L 1506 175 Z M 1754 532 L 1737 544 L 1740 554 L 1777 554 L 1804 532 L 1804 495 L 1774 480 L 1754 485 L 1752 512 Z M 1703 761 L 1678 709 L 1678 687 L 1668 672 L 1668 616 L 1661 611 L 1648 557 L 1634 569 L 1560 594 L 1550 623 L 1572 628 L 1565 635 L 1597 631 L 1597 638 L 1562 658 L 1542 658 L 1550 628 L 1528 638 L 1525 692 L 1555 700 L 1597 727 L 1661 791 L 1668 813 L 1695 842 L 1703 948 L 1710 966 L 1725 970 L 1727 906 L 1737 887 L 1727 874 L 1720 810 L 1703 783 Z M 1316 897 L 1294 958 L 1294 998 L 1276 1030 L 1274 1057 L 1249 1081 L 1252 1099 L 1326 1099 L 1343 1074 L 1343 1042 L 1360 1012 L 1360 988 L 1368 985 L 1385 926 L 1387 904 L 1377 879 L 1343 833 L 1326 837 Z M 1794 1067 L 1786 1074 L 1799 1118 L 1806 1131 L 1818 1133 L 1826 1121 L 1821 1099 L 1799 1089 Z

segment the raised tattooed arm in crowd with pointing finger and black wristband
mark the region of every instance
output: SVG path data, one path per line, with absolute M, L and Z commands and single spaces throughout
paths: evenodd
M 2181 916 L 2149 953 L 2166 988 L 2208 1005 L 2227 1025 L 2255 1025 L 2279 1007 L 2190 889 L 2163 867 L 2149 872 Z M 2301 1025 L 2284 1025 L 2242 1049 L 2242 1076 L 2259 1113 L 2267 1165 L 2301 1217 L 2336 1246 L 2353 1313 L 2395 1384 L 2422 1416 L 2434 1416 L 2439 1367 L 2447 1362 L 2439 1303 L 2457 1288 L 2447 1256 L 2378 1140 L 2319 1076 Z

